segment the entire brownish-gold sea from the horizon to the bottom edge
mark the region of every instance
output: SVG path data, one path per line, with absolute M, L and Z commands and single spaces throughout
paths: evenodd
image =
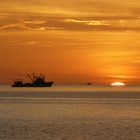
M 139 139 L 138 86 L 0 86 L 0 140 Z

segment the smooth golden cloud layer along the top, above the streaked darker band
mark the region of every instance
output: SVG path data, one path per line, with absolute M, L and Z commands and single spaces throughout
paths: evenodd
M 138 0 L 2 0 L 0 11 L 7 13 L 44 13 L 79 16 L 136 16 Z

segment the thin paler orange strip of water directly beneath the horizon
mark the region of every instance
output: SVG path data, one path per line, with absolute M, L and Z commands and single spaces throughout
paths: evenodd
M 90 92 L 139 92 L 140 86 L 88 86 L 88 85 L 54 85 L 52 87 L 23 87 L 23 88 L 12 88 L 11 86 L 0 86 L 0 93 L 2 92 L 78 92 L 78 93 L 90 93 Z

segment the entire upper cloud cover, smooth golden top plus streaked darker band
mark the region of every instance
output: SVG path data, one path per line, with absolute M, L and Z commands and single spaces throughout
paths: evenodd
M 3 0 L 0 30 L 140 31 L 139 6 L 137 0 Z

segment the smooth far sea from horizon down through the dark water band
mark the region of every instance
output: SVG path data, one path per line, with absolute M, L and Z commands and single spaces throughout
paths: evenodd
M 0 99 L 25 98 L 140 99 L 140 87 L 52 86 L 50 88 L 12 88 L 0 86 Z

